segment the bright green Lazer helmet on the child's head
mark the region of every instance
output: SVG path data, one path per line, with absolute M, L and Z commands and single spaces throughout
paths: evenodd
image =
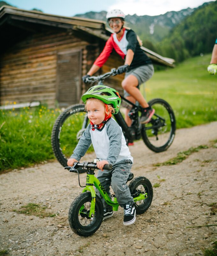
M 121 105 L 121 97 L 119 93 L 108 86 L 105 85 L 95 85 L 91 87 L 83 96 L 81 100 L 86 103 L 87 99 L 96 98 L 103 101 L 105 104 L 111 104 L 115 110 L 115 114 L 118 113 Z

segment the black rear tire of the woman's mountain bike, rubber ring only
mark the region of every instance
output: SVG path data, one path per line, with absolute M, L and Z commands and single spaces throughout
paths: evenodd
M 141 135 L 142 135 L 142 139 L 143 139 L 144 143 L 146 144 L 146 146 L 149 149 L 151 149 L 152 151 L 159 153 L 159 152 L 163 152 L 163 151 L 167 150 L 174 140 L 175 133 L 176 133 L 176 118 L 175 118 L 173 109 L 171 108 L 171 106 L 169 105 L 169 103 L 167 101 L 162 100 L 162 99 L 152 99 L 148 102 L 149 106 L 153 106 L 155 103 L 159 103 L 159 104 L 163 105 L 167 109 L 168 114 L 170 116 L 171 131 L 170 131 L 168 140 L 161 147 L 154 146 L 147 137 L 146 130 L 145 130 L 146 124 L 142 125 Z

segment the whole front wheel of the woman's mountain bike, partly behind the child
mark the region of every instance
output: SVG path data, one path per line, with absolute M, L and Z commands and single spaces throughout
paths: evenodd
M 51 134 L 51 145 L 56 159 L 64 167 L 67 166 L 67 160 L 88 124 L 83 104 L 70 106 L 56 119 Z M 85 171 L 79 168 L 79 172 Z

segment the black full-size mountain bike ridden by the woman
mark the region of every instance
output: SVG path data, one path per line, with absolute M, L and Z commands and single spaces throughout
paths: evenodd
M 103 75 L 90 76 L 86 81 L 103 84 L 105 79 L 116 75 L 117 70 L 113 68 Z M 128 127 L 121 111 L 113 117 L 121 126 L 126 142 L 139 140 L 142 137 L 146 146 L 152 151 L 162 152 L 167 150 L 174 140 L 176 131 L 175 115 L 168 102 L 162 99 L 150 100 L 148 104 L 155 109 L 155 114 L 147 124 L 140 124 L 139 118 L 143 110 L 141 106 L 133 104 L 123 96 L 121 96 L 121 99 L 121 106 L 124 104 L 125 107 L 131 108 L 129 116 L 132 119 L 132 124 Z M 51 144 L 56 159 L 63 166 L 67 165 L 68 158 L 70 158 L 88 124 L 89 119 L 84 104 L 72 105 L 58 116 L 52 129 Z

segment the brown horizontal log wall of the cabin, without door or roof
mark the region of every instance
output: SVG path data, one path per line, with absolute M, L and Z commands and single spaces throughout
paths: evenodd
M 82 38 L 72 31 L 35 33 L 6 50 L 0 56 L 0 105 L 40 100 L 49 107 L 58 106 L 58 53 L 72 49 L 81 51 L 79 74 L 82 76 L 89 70 L 105 44 L 97 38 L 91 43 Z M 123 65 L 123 61 L 114 53 L 103 66 L 101 73 L 120 65 Z M 107 83 L 119 90 L 122 78 L 123 75 L 115 76 Z M 81 94 L 85 92 L 86 86 L 81 79 L 79 83 Z M 76 97 L 74 103 L 80 100 L 80 95 Z

